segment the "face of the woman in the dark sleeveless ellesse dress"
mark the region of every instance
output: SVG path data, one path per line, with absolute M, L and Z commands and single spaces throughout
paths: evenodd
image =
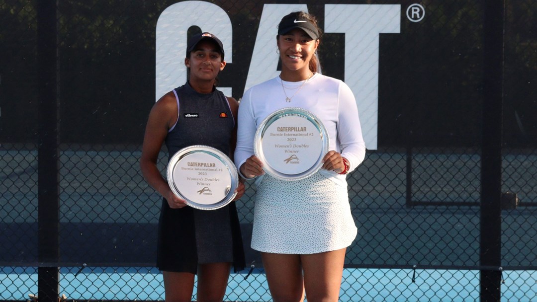
M 226 66 L 218 46 L 211 40 L 199 42 L 185 58 L 186 67 L 190 68 L 191 80 L 214 80 Z

